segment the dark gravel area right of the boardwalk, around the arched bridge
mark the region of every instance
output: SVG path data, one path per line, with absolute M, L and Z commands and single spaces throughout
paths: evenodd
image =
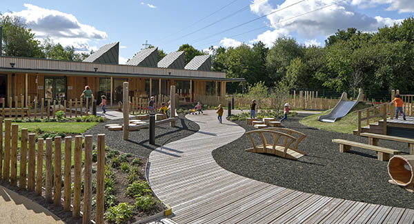
M 246 134 L 214 150 L 213 157 L 226 170 L 257 181 L 335 198 L 414 208 L 414 194 L 388 183 L 387 162 L 377 161 L 375 152 L 352 148 L 350 152 L 340 153 L 339 145 L 331 142 L 348 139 L 367 143 L 366 138 L 308 128 L 299 123 L 304 116 L 299 114 L 284 123 L 286 128 L 307 135 L 298 147 L 306 156 L 297 161 L 245 152 L 252 147 Z M 246 131 L 254 129 L 245 121 L 236 123 Z M 259 136 L 255 136 L 255 142 L 260 142 Z M 408 153 L 404 143 L 380 141 L 379 145 Z

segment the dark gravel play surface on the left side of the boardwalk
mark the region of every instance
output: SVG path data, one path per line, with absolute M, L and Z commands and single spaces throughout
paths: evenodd
M 155 150 L 157 147 L 182 139 L 199 130 L 199 125 L 197 125 L 197 123 L 184 118 L 182 115 L 179 115 L 179 120 L 175 123 L 175 128 L 170 127 L 170 123 L 164 123 L 156 126 L 155 145 L 150 145 L 150 132 L 148 128 L 144 128 L 137 132 L 130 132 L 130 140 L 124 141 L 122 138 L 122 131 L 114 132 L 105 128 L 105 125 L 108 123 L 121 124 L 123 121 L 122 119 L 119 119 L 100 123 L 95 125 L 93 128 L 90 128 L 84 134 L 94 134 L 95 137 L 97 134 L 106 134 L 105 143 L 111 149 L 135 154 L 147 159 L 152 150 Z

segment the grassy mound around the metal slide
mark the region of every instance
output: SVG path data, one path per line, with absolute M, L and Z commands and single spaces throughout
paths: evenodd
M 320 130 L 326 130 L 331 132 L 339 132 L 339 133 L 346 133 L 346 134 L 353 134 L 353 130 L 358 129 L 358 113 L 357 110 L 362 110 L 364 108 L 369 108 L 370 105 L 364 105 L 364 103 L 358 103 L 351 112 L 346 114 L 342 119 L 339 121 L 335 121 L 334 123 L 326 123 L 322 121 L 318 121 L 317 119 L 319 116 L 328 114 L 331 110 L 326 110 L 319 114 L 313 114 L 311 116 L 306 116 L 299 121 L 302 125 L 306 125 L 308 127 L 317 128 Z M 365 114 L 364 114 L 365 115 Z M 381 119 L 381 117 L 378 117 Z

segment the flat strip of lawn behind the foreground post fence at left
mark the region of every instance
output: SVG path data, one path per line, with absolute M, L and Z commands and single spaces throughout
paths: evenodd
M 12 123 L 14 124 L 14 123 Z M 37 128 L 43 132 L 63 132 L 68 134 L 81 134 L 86 132 L 89 128 L 97 125 L 97 122 L 22 122 L 15 123 L 19 125 L 19 132 L 21 128 L 27 128 L 28 132 L 35 132 Z M 4 124 L 3 124 L 4 130 Z

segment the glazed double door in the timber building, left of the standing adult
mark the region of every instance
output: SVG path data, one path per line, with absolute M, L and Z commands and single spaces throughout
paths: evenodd
M 45 78 L 45 99 L 63 101 L 66 99 L 66 77 Z

